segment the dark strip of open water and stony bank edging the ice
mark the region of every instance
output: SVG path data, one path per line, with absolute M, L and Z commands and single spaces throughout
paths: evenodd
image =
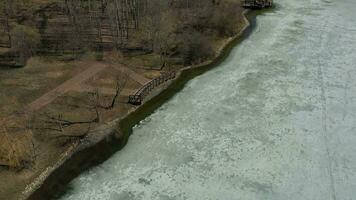
M 121 119 L 104 124 L 95 134 L 73 144 L 58 162 L 49 166 L 21 193 L 20 199 L 51 199 L 68 189 L 68 183 L 83 171 L 97 166 L 125 147 L 132 127 L 153 113 L 158 107 L 179 92 L 194 77 L 217 67 L 241 41 L 248 38 L 256 24 L 257 12 L 245 10 L 244 27 L 235 36 L 224 41 L 212 60 L 182 68 L 177 77 L 152 92 L 141 106 L 131 110 Z M 90 158 L 90 159 L 87 159 Z

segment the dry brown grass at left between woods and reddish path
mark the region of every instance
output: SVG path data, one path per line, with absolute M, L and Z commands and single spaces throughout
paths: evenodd
M 24 68 L 0 68 L 1 115 L 21 111 L 83 69 L 85 65 L 81 62 L 53 62 L 41 58 L 32 58 Z

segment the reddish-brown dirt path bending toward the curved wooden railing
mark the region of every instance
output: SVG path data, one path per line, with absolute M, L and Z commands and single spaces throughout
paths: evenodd
M 90 79 L 94 75 L 98 74 L 99 72 L 105 70 L 109 66 L 112 66 L 114 69 L 125 72 L 127 73 L 132 79 L 137 81 L 138 83 L 144 85 L 145 83 L 149 82 L 150 80 L 145 78 L 144 76 L 134 72 L 131 69 L 128 69 L 127 67 L 123 65 L 109 65 L 109 64 L 103 64 L 103 63 L 95 63 L 92 66 L 90 66 L 88 69 L 85 71 L 77 74 L 73 78 L 67 80 L 63 84 L 59 85 L 57 88 L 51 90 L 50 92 L 44 94 L 40 98 L 36 99 L 32 103 L 28 105 L 26 108 L 27 111 L 36 111 L 42 108 L 43 106 L 46 106 L 53 102 L 57 97 L 65 94 L 68 91 L 75 90 L 75 91 L 80 91 L 80 88 L 82 88 L 82 83 L 84 83 L 86 80 Z M 110 89 L 107 88 L 102 88 L 101 90 L 104 91 L 104 93 L 112 93 Z M 109 91 L 110 90 L 110 91 Z M 129 95 L 132 91 L 131 90 L 124 90 L 123 95 Z

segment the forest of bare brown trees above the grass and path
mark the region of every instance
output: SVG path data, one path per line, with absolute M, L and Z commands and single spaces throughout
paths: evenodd
M 113 48 L 175 58 L 190 64 L 212 56 L 209 40 L 236 31 L 233 0 L 47 0 L 0 5 L 0 46 L 20 52 L 78 55 Z

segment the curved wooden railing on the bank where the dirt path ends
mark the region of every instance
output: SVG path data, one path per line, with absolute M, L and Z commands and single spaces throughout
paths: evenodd
M 141 105 L 144 98 L 157 86 L 172 80 L 176 77 L 176 72 L 164 73 L 161 76 L 151 80 L 146 83 L 142 88 L 140 88 L 134 95 L 129 96 L 129 103 L 133 105 Z

